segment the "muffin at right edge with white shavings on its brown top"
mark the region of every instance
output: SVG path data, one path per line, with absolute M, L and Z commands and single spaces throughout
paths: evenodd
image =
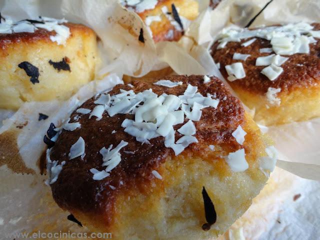
M 227 28 L 212 45 L 222 75 L 254 120 L 283 124 L 320 116 L 320 24 Z

